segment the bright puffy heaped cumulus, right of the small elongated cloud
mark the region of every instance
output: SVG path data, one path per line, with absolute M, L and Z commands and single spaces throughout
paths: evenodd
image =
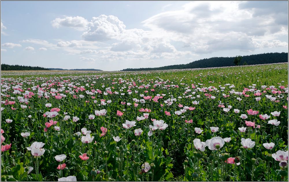
M 117 38 L 124 30 L 125 25 L 116 16 L 100 15 L 92 18 L 82 37 L 87 41 L 103 41 Z

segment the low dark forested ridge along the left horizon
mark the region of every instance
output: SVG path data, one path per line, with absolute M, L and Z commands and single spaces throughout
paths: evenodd
M 34 71 L 34 70 L 67 70 L 62 68 L 44 68 L 39 66 L 22 66 L 22 65 L 8 65 L 1 64 L 1 71 Z M 71 69 L 68 71 L 102 71 L 96 69 Z

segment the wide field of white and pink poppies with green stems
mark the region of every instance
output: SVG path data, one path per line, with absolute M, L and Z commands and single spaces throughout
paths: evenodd
M 288 63 L 1 74 L 1 181 L 288 181 Z

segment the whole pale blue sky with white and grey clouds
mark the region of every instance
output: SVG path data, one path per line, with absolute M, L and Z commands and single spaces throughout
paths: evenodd
M 1 63 L 160 67 L 288 52 L 288 1 L 1 1 Z

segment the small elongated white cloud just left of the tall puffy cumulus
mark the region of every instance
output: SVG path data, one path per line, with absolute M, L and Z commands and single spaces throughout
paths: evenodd
M 70 27 L 82 31 L 87 29 L 88 21 L 81 16 L 65 16 L 65 18 L 55 18 L 51 24 L 54 28 Z

